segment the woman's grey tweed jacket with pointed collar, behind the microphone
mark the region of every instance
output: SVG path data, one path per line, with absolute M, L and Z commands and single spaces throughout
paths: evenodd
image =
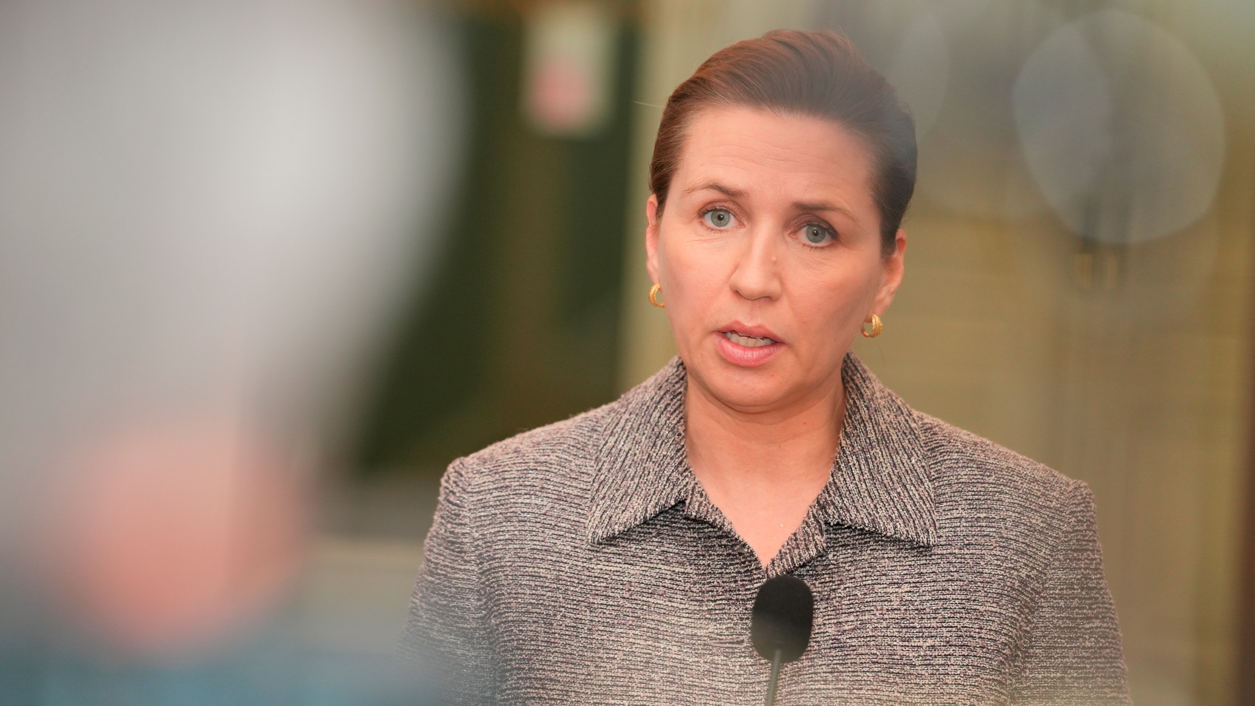
M 1084 484 L 852 354 L 832 479 L 764 570 L 685 461 L 685 369 L 454 461 L 402 652 L 459 702 L 758 705 L 769 577 L 814 592 L 777 703 L 1127 703 Z

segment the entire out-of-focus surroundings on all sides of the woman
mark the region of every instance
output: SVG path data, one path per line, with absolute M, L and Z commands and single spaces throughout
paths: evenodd
M 774 28 L 916 117 L 856 352 L 1091 485 L 1135 701 L 1255 705 L 1249 0 L 0 0 L 0 702 L 390 702 L 448 462 L 674 354 L 660 106 Z

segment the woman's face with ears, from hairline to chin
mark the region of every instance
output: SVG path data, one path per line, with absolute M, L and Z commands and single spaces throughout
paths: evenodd
M 872 157 L 832 122 L 754 108 L 693 116 L 665 209 L 650 196 L 649 275 L 694 382 L 744 411 L 831 393 L 841 361 L 902 280 L 881 255 Z

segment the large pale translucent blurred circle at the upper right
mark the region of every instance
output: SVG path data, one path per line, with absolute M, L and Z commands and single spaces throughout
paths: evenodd
M 1025 162 L 1073 234 L 1135 244 L 1211 207 L 1224 113 L 1199 59 L 1135 14 L 1072 21 L 1029 57 L 1012 90 Z

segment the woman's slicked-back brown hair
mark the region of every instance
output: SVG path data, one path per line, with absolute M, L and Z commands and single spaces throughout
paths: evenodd
M 880 211 L 881 251 L 894 253 L 897 229 L 915 191 L 915 121 L 894 87 L 853 44 L 828 30 L 773 30 L 715 52 L 671 93 L 649 165 L 661 212 L 694 113 L 744 106 L 832 121 L 866 141 L 872 198 Z

